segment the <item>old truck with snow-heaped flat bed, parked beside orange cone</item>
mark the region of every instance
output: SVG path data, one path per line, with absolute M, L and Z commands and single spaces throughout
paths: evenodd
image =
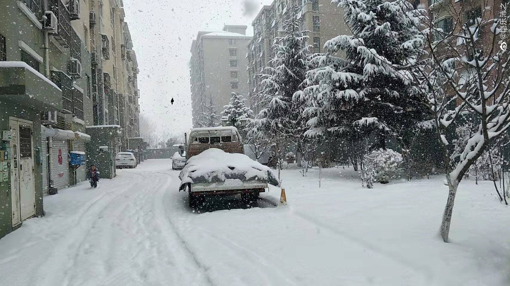
M 236 195 L 246 202 L 257 200 L 268 184 L 278 185 L 272 170 L 243 154 L 237 128 L 194 128 L 189 134 L 186 165 L 180 190 L 188 192 L 190 207 L 206 196 Z

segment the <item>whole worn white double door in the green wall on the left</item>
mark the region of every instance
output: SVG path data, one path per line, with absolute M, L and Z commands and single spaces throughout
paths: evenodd
M 32 123 L 10 119 L 12 225 L 35 215 Z

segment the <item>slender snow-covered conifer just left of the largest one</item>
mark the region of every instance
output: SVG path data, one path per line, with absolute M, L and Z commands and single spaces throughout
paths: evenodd
M 308 31 L 300 30 L 299 8 L 293 2 L 289 5 L 293 6 L 283 24 L 285 35 L 275 39 L 274 58 L 257 75 L 261 81 L 256 87 L 256 98 L 262 110 L 253 123 L 254 130 L 298 138 L 302 136 L 297 134 L 304 132 L 303 104 L 293 100 L 293 95 L 309 69 L 310 46 Z

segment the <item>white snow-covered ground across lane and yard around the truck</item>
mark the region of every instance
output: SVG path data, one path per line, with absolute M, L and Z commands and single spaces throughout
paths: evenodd
M 0 284 L 510 284 L 510 216 L 490 182 L 461 184 L 443 243 L 441 177 L 363 189 L 330 168 L 319 188 L 318 170 L 284 170 L 287 207 L 208 199 L 199 213 L 178 175 L 148 160 L 45 197 L 45 217 L 0 240 Z

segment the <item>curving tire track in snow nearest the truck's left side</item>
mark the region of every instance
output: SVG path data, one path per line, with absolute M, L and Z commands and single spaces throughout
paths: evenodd
M 199 259 L 195 251 L 193 251 L 189 244 L 184 240 L 180 232 L 177 230 L 177 227 L 173 224 L 172 219 L 170 218 L 168 212 L 164 211 L 163 202 L 167 202 L 165 198 L 165 194 L 168 192 L 168 190 L 171 189 L 172 182 L 174 180 L 174 176 L 172 174 L 163 173 L 163 172 L 156 172 L 158 174 L 167 176 L 166 177 L 166 183 L 165 185 L 159 189 L 157 196 L 154 197 L 154 210 L 156 212 L 156 220 L 160 227 L 163 230 L 163 234 L 165 233 L 174 233 L 176 238 L 178 239 L 179 243 L 182 245 L 182 249 L 185 250 L 188 254 L 188 259 L 192 260 L 194 265 L 197 267 L 197 269 L 200 271 L 200 273 L 203 275 L 203 278 L 205 279 L 205 282 L 207 282 L 208 285 L 215 285 L 209 276 L 208 270 L 209 268 L 204 265 Z M 171 245 L 171 242 L 168 241 L 169 246 Z

